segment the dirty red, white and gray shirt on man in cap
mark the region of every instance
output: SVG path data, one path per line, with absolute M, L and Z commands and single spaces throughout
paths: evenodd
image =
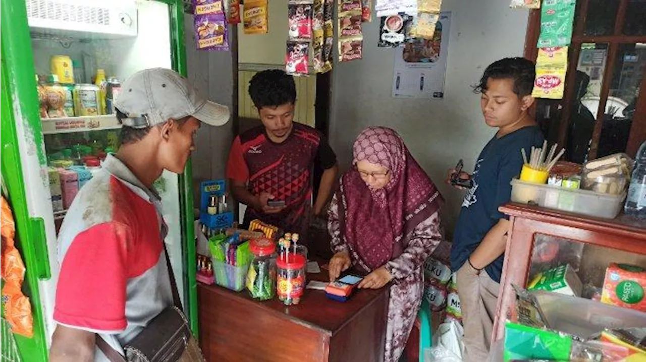
M 113 348 L 172 305 L 160 196 L 108 156 L 74 199 L 58 236 L 54 320 Z M 96 348 L 95 361 L 108 361 Z

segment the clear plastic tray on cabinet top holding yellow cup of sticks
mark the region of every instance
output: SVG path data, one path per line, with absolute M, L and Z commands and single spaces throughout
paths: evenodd
M 536 185 L 512 179 L 512 201 L 554 208 L 587 216 L 614 219 L 623 206 L 626 193 L 601 194 L 589 190 L 570 190 L 559 186 Z

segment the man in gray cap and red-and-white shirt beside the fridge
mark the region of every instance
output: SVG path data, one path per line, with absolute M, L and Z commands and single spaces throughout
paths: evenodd
M 173 305 L 167 226 L 152 183 L 163 170 L 183 172 L 200 123 L 229 120 L 226 106 L 172 70 L 142 70 L 121 89 L 121 146 L 79 190 L 59 232 L 52 362 L 109 361 L 101 341 L 123 355 L 122 346 Z

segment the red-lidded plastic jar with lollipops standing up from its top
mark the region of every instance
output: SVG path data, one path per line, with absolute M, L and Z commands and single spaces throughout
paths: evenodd
M 285 305 L 296 305 L 300 302 L 305 290 L 305 265 L 305 257 L 299 254 L 283 255 L 276 261 L 276 292 L 278 299 Z

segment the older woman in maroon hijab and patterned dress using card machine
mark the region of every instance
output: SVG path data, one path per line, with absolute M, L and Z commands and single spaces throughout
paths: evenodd
M 390 128 L 361 132 L 353 155 L 328 211 L 335 253 L 329 277 L 335 280 L 353 265 L 366 274 L 359 288 L 393 281 L 384 361 L 396 362 L 422 303 L 424 261 L 443 239 L 443 198 Z

